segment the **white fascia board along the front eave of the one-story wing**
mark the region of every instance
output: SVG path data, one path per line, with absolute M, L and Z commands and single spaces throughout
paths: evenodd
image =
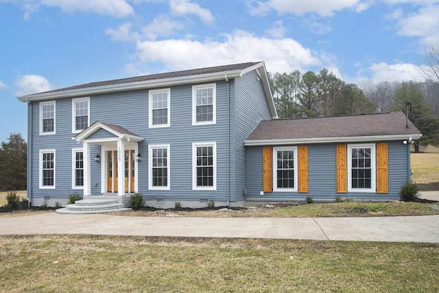
M 405 140 L 409 137 L 412 139 L 420 139 L 423 134 L 396 134 L 396 135 L 375 135 L 367 137 L 317 137 L 313 139 L 261 139 L 261 140 L 245 140 L 244 145 L 292 145 L 305 143 L 359 143 L 364 141 L 397 141 Z

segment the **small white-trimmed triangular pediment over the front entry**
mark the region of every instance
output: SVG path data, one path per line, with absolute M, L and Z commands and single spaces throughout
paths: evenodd
M 75 137 L 75 141 L 99 141 L 102 139 L 126 139 L 127 141 L 143 141 L 143 137 L 123 128 L 119 125 L 109 124 L 102 121 L 96 121 L 82 130 Z

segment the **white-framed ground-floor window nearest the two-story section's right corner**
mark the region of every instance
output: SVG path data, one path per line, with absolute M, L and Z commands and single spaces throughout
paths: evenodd
M 193 143 L 192 156 L 192 188 L 200 190 L 216 190 L 216 143 Z

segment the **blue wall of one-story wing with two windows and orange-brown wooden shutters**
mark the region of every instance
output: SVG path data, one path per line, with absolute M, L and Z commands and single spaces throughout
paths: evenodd
M 269 172 L 264 153 L 271 156 Z M 248 147 L 246 200 L 397 200 L 409 159 L 402 140 Z

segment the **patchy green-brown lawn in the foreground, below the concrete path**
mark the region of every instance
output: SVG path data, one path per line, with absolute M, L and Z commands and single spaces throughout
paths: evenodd
M 0 237 L 1 292 L 438 292 L 439 244 Z

